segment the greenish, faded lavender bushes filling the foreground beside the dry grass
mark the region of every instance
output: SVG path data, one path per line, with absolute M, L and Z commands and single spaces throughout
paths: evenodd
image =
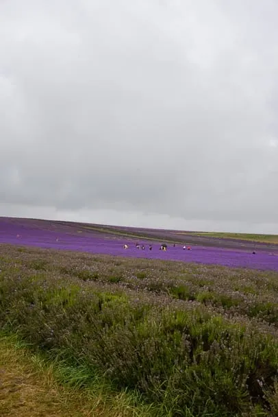
M 0 270 L 0 326 L 63 383 L 134 416 L 278 415 L 277 273 L 12 246 Z

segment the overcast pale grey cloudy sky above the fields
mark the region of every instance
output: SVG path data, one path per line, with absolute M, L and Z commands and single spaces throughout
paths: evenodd
M 1 0 L 0 215 L 278 233 L 277 0 Z

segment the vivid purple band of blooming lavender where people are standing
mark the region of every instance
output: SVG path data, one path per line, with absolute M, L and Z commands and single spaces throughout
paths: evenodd
M 127 230 L 127 228 L 121 229 Z M 190 243 L 191 250 L 183 250 L 184 244 L 178 242 L 175 247 L 173 242 L 168 243 L 168 250 L 159 250 L 164 242 L 153 239 L 136 239 L 129 236 L 119 236 L 108 233 L 107 230 L 98 231 L 90 226 L 75 226 L 54 224 L 51 222 L 28 221 L 19 219 L 0 218 L 0 243 L 16 245 L 36 246 L 40 248 L 55 248 L 60 250 L 73 250 L 94 254 L 110 254 L 121 257 L 136 257 L 147 259 L 164 259 L 168 261 L 184 261 L 203 264 L 218 264 L 229 267 L 247 267 L 257 270 L 278 271 L 278 246 L 273 250 L 262 248 L 242 248 L 240 242 L 238 248 L 221 248 L 220 239 L 218 247 L 199 246 Z M 156 230 L 157 233 L 157 230 Z M 159 231 L 162 235 L 162 231 Z M 168 234 L 164 238 L 167 240 Z M 144 244 L 144 250 L 136 249 L 136 243 Z M 125 250 L 123 246 L 129 247 Z M 149 250 L 151 245 L 152 250 Z

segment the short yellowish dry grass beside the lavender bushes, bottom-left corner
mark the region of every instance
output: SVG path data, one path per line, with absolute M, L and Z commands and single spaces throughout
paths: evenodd
M 149 416 L 134 409 L 125 393 L 108 394 L 95 381 L 93 390 L 74 388 L 76 375 L 42 355 L 30 355 L 18 337 L 0 333 L 0 415 L 5 417 L 131 417 Z M 69 386 L 71 385 L 71 386 Z

